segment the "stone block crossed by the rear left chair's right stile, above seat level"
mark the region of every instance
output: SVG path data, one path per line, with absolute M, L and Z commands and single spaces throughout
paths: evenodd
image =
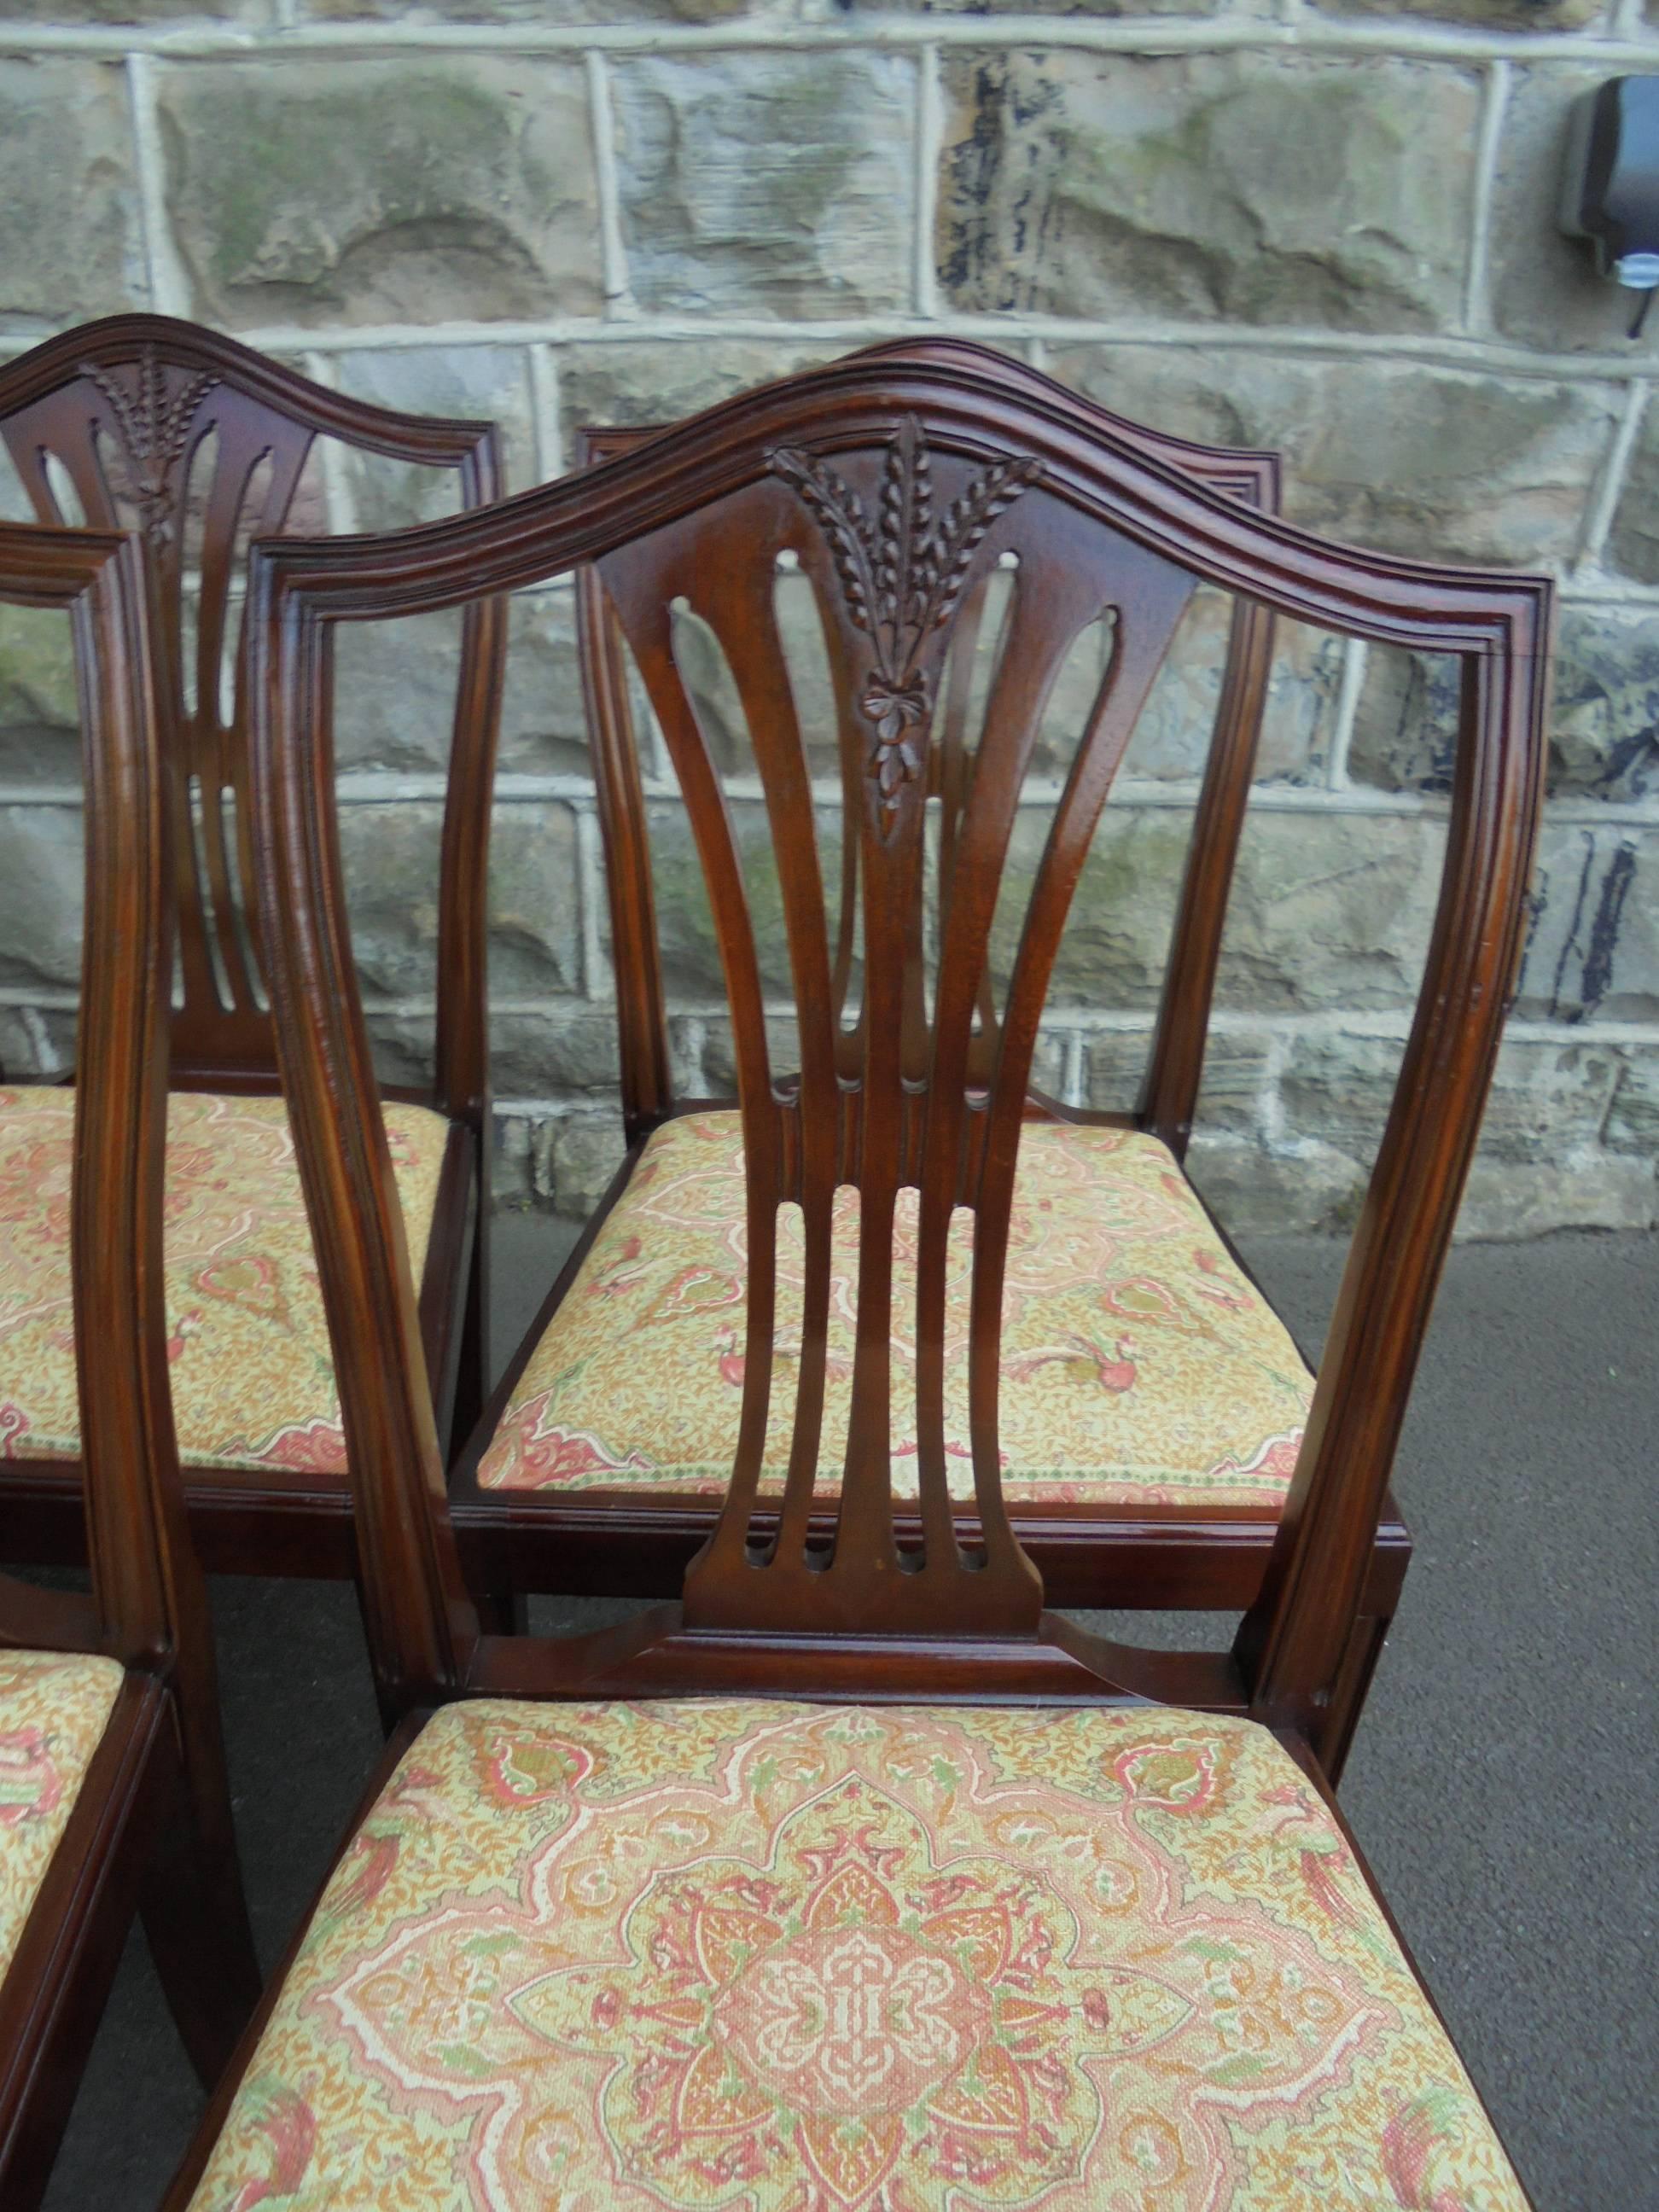
M 365 991 L 427 1000 L 436 989 L 438 836 L 427 801 L 341 810 L 341 865 Z M 511 998 L 582 987 L 575 816 L 562 805 L 495 810 L 489 863 L 489 987 Z

